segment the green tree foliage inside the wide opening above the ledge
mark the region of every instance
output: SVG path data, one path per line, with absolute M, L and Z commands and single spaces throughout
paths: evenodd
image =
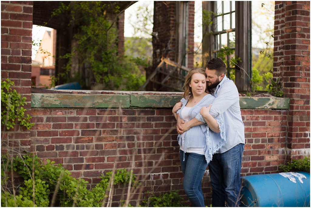
M 67 76 L 68 81 L 82 82 L 84 68 L 91 72 L 91 85 L 97 90 L 138 90 L 146 78 L 136 62 L 119 54 L 116 22 L 123 11 L 117 2 L 79 1 L 69 6 L 60 3 L 53 15 L 68 11 L 70 24 L 77 30 L 73 35 L 77 44 L 72 53 L 60 57 L 68 60 L 60 75 Z M 70 73 L 73 59 L 78 59 L 80 67 L 75 74 Z

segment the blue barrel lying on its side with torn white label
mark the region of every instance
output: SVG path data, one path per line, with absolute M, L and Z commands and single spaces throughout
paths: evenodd
M 240 206 L 310 207 L 309 173 L 245 176 L 241 177 L 241 184 Z

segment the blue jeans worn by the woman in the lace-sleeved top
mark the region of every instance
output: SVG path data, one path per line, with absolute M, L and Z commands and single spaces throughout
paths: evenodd
M 207 168 L 204 155 L 180 152 L 180 164 L 183 171 L 183 190 L 186 192 L 193 207 L 204 207 L 202 178 Z M 183 156 L 185 155 L 185 161 Z

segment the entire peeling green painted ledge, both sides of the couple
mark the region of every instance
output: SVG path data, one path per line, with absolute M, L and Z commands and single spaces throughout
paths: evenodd
M 32 108 L 173 108 L 180 95 L 31 94 Z M 289 98 L 240 97 L 241 109 L 289 109 Z

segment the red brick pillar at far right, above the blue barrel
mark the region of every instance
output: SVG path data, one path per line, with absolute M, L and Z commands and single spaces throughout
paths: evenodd
M 310 155 L 310 2 L 275 2 L 274 79 L 290 98 L 287 160 Z

